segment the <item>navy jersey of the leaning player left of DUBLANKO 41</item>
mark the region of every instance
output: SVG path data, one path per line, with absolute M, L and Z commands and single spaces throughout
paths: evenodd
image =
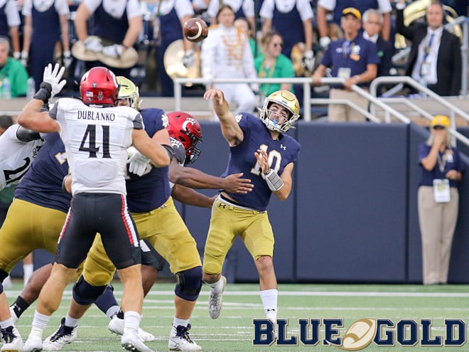
M 62 181 L 67 174 L 68 162 L 62 139 L 58 133 L 46 134 L 38 156 L 16 186 L 15 198 L 67 213 L 72 198 L 71 194 L 62 191 Z

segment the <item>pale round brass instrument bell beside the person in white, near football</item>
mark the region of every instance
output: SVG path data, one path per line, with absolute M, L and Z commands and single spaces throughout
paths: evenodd
M 200 46 L 194 46 L 194 64 L 190 68 L 186 68 L 183 64 L 184 46 L 183 40 L 173 41 L 163 56 L 163 65 L 166 73 L 173 80 L 175 78 L 200 78 Z M 192 83 L 186 83 L 186 87 L 190 87 Z

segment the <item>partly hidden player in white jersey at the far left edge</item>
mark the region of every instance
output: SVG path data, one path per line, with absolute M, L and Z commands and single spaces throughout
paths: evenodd
M 41 134 L 11 125 L 0 136 L 0 191 L 6 185 L 17 184 L 26 174 L 39 149 L 44 144 Z

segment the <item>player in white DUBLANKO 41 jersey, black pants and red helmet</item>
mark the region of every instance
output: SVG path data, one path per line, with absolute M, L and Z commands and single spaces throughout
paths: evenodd
M 149 138 L 141 114 L 130 107 L 114 107 L 119 92 L 117 79 L 107 68 L 87 71 L 80 82 L 80 100 L 63 98 L 49 112 L 39 112 L 43 102 L 65 85 L 65 68 L 56 64 L 44 70 L 41 89 L 18 115 L 18 123 L 38 132 L 58 132 L 65 144 L 72 175 L 72 201 L 57 247 L 50 278 L 39 295 L 31 333 L 23 351 L 42 351 L 43 331 L 58 309 L 63 290 L 85 260 L 96 233 L 117 267 L 124 284 L 122 309 L 127 351 L 148 352 L 139 339 L 143 289 L 139 235 L 126 206 L 126 149 L 134 145 L 154 166 L 171 162 L 173 149 Z M 81 292 L 73 290 L 75 299 Z

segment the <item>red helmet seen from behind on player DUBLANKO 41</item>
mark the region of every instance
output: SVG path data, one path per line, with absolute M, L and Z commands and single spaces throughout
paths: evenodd
M 119 83 L 112 71 L 103 67 L 88 70 L 80 81 L 80 95 L 87 105 L 112 105 L 119 95 Z

